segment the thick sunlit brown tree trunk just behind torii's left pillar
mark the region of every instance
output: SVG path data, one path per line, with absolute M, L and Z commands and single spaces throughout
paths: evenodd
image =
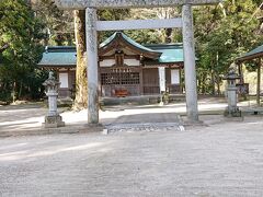
M 87 108 L 88 84 L 87 84 L 87 56 L 85 56 L 85 11 L 75 11 L 75 35 L 77 47 L 76 68 L 76 97 L 75 109 Z

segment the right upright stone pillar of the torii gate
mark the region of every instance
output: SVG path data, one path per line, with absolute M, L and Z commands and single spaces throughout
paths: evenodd
M 187 119 L 190 121 L 198 121 L 193 12 L 191 4 L 183 5 L 182 19 Z

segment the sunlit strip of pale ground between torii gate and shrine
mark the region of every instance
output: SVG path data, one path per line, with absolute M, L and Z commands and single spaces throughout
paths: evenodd
M 218 99 L 203 99 L 199 101 L 199 109 L 218 111 L 226 107 L 226 103 L 218 103 Z M 65 111 L 65 108 L 60 108 Z M 140 105 L 140 106 L 112 106 L 105 107 L 100 112 L 100 121 L 108 127 L 115 127 L 121 124 L 156 124 L 159 123 L 175 123 L 173 127 L 178 127 L 179 114 L 185 114 L 185 103 L 175 103 L 167 106 Z M 0 137 L 18 136 L 25 134 L 49 134 L 60 132 L 59 129 L 43 130 L 42 123 L 47 108 L 39 104 L 25 104 L 13 106 L 0 106 Z M 65 112 L 61 114 L 66 126 L 64 130 L 75 132 L 77 128 L 82 128 L 87 124 L 87 111 L 81 112 Z M 140 127 L 140 126 L 139 126 Z M 127 129 L 127 125 L 125 127 Z M 148 129 L 148 128 L 147 128 Z M 149 128 L 152 130 L 152 128 Z M 116 127 L 115 129 L 116 130 Z M 156 130 L 156 126 L 153 128 Z

